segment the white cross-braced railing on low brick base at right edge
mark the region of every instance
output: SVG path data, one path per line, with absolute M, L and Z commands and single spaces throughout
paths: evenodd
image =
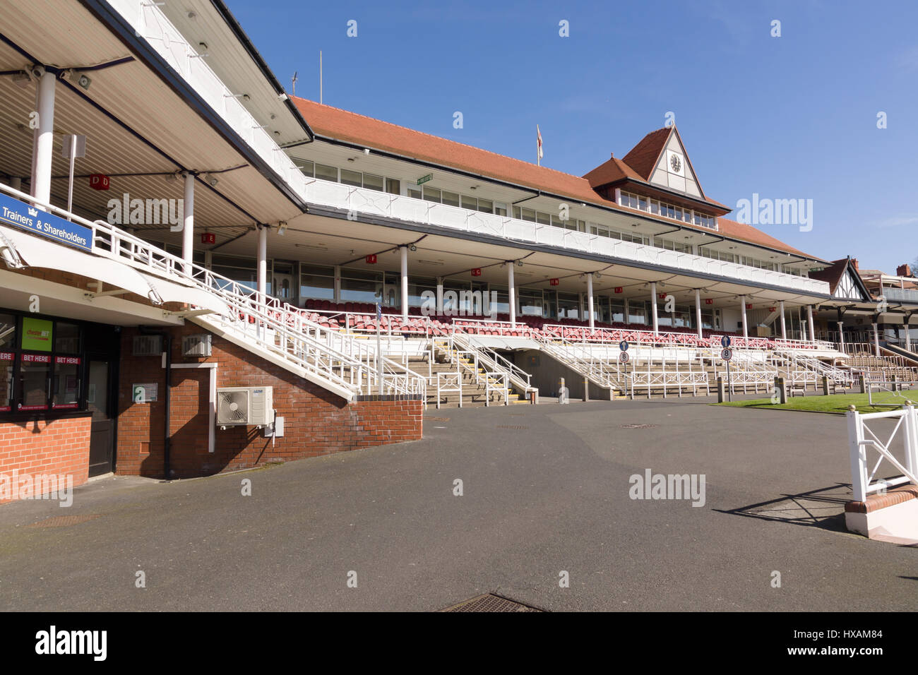
M 915 477 L 918 471 L 918 417 L 913 405 L 906 405 L 901 410 L 890 412 L 862 414 L 848 411 L 847 417 L 851 489 L 855 501 L 865 501 L 872 492 L 882 492 L 903 483 L 911 482 L 918 485 L 918 478 Z M 884 432 L 871 429 L 868 422 L 875 420 L 894 422 L 892 431 L 886 435 Z M 897 434 L 901 441 L 901 459 L 895 456 L 893 450 Z M 882 439 L 884 435 L 886 440 Z M 875 450 L 878 454 L 872 468 L 868 461 L 868 449 Z M 879 467 L 886 467 L 883 464 L 884 460 L 886 464 L 899 471 L 900 476 L 885 480 L 876 478 Z

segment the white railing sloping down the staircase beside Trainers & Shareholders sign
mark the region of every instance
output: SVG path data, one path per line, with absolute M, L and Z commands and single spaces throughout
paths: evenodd
M 332 390 L 346 399 L 360 393 L 378 393 L 380 359 L 384 394 L 422 395 L 424 392 L 423 378 L 404 372 L 395 362 L 376 354 L 366 341 L 308 321 L 306 312 L 301 309 L 276 298 L 262 301 L 251 288 L 198 264 L 185 262 L 177 255 L 162 251 L 103 220 L 80 218 L 2 184 L 0 191 L 88 228 L 91 231 L 91 250 L 95 255 L 219 298 L 227 307 L 227 312 L 202 313 L 197 317 L 198 321 L 216 325 L 273 354 L 275 358 L 279 357 L 287 366 L 319 377 L 320 381 L 328 383 Z

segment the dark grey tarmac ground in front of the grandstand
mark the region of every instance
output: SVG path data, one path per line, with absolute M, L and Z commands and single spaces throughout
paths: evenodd
M 0 609 L 914 610 L 918 550 L 845 532 L 845 418 L 710 402 L 431 409 L 413 443 L 6 504 Z M 647 469 L 703 505 L 632 499 Z

